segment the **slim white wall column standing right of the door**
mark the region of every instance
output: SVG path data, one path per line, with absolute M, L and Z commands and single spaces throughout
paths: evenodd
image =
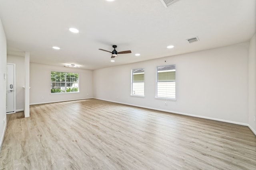
M 29 62 L 30 62 L 30 53 L 25 52 L 25 102 L 24 102 L 24 117 L 29 117 L 29 96 L 30 96 L 30 85 L 29 85 Z

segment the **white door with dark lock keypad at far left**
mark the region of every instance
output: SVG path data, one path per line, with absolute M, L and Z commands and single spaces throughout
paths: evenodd
M 15 64 L 7 64 L 6 113 L 16 112 Z

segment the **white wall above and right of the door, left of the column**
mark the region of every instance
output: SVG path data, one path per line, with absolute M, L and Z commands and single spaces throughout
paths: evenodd
M 24 110 L 25 66 L 24 57 L 7 55 L 7 63 L 16 64 L 16 111 Z

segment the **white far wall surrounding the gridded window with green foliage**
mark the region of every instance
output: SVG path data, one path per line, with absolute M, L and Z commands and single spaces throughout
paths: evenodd
M 80 92 L 50 94 L 51 71 L 79 73 Z M 92 70 L 30 63 L 30 87 L 30 104 L 92 98 Z

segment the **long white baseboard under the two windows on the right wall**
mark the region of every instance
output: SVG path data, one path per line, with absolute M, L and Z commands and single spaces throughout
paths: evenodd
M 99 99 L 99 98 L 95 98 L 98 100 L 103 100 L 103 99 Z M 164 109 L 156 109 L 156 108 L 152 108 L 152 107 L 144 107 L 144 106 L 138 106 L 138 105 L 133 105 L 133 104 L 126 104 L 126 103 L 121 103 L 121 102 L 115 102 L 115 101 L 110 101 L 110 100 L 104 100 L 107 102 L 114 102 L 114 103 L 119 103 L 119 104 L 125 104 L 125 105 L 129 105 L 129 106 L 136 106 L 136 107 L 142 107 L 142 108 L 146 108 L 146 109 L 152 109 L 152 110 L 158 110 L 158 111 L 165 111 L 168 113 L 175 113 L 175 114 L 179 114 L 179 115 L 186 115 L 186 116 L 192 116 L 192 117 L 198 117 L 198 118 L 203 118 L 203 119 L 210 119 L 210 120 L 215 120 L 215 121 L 222 121 L 222 122 L 226 122 L 226 123 L 233 123 L 236 125 L 243 125 L 243 126 L 248 126 L 248 123 L 242 123 L 242 122 L 236 122 L 236 121 L 229 121 L 229 120 L 224 120 L 224 119 L 217 119 L 217 118 L 213 118 L 213 117 L 206 117 L 206 116 L 200 116 L 200 115 L 192 115 L 192 114 L 188 114 L 188 113 L 182 113 L 182 112 L 177 112 L 177 111 L 170 111 L 170 110 L 164 110 Z M 252 128 L 250 128 L 252 129 Z M 255 131 L 254 131 L 255 132 Z

